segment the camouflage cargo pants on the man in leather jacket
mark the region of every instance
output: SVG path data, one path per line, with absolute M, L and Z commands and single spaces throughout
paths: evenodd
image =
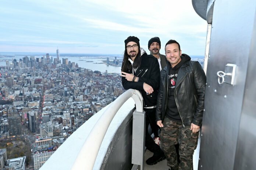
M 161 129 L 161 146 L 167 158 L 167 165 L 173 169 L 193 170 L 193 153 L 197 147 L 199 133 L 192 133 L 190 126 L 182 126 L 165 117 L 164 127 Z M 179 156 L 181 163 L 177 162 L 177 153 L 174 145 L 179 142 Z

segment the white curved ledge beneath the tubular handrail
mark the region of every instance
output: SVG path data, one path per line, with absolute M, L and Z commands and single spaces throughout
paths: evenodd
M 98 153 L 96 164 L 98 165 L 101 160 L 103 160 L 106 149 L 109 143 L 112 140 L 112 137 L 117 130 L 117 128 L 122 123 L 122 120 L 125 119 L 125 117 L 129 114 L 129 112 L 134 108 L 135 102 L 132 98 L 129 98 L 124 105 L 121 106 L 121 108 L 116 113 L 113 121 L 110 124 L 109 129 L 107 130 L 107 135 L 103 139 L 103 144 L 100 148 L 100 151 Z M 46 161 L 45 164 L 40 168 L 40 170 L 49 170 L 49 169 L 56 169 L 56 170 L 70 170 L 73 167 L 73 164 L 75 163 L 78 154 L 80 153 L 80 150 L 86 141 L 86 138 L 88 137 L 90 131 L 92 130 L 93 126 L 97 122 L 97 120 L 100 118 L 102 113 L 109 107 L 107 105 L 105 108 L 97 112 L 95 115 L 93 115 L 88 121 L 86 121 L 84 124 L 82 124 L 81 127 L 79 127 L 68 139 L 60 146 L 60 148 L 57 149 L 56 152 L 54 152 L 53 155 Z M 96 167 L 97 167 L 96 165 Z

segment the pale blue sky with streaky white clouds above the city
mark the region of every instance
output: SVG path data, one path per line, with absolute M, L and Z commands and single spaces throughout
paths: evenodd
M 128 36 L 204 55 L 207 22 L 191 0 L 1 0 L 0 52 L 123 54 Z

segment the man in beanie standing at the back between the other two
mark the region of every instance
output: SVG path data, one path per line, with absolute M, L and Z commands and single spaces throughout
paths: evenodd
M 163 69 L 167 65 L 167 59 L 165 55 L 160 54 L 159 52 L 161 49 L 161 41 L 159 37 L 150 39 L 147 47 L 149 48 L 150 54 L 157 58 L 160 70 Z

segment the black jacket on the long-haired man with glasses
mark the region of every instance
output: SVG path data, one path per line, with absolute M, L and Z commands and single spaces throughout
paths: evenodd
M 125 71 L 132 74 L 132 70 Z M 144 53 L 141 56 L 141 66 L 136 69 L 135 76 L 139 77 L 138 82 L 129 82 L 122 77 L 122 86 L 125 90 L 130 88 L 141 91 L 144 106 L 150 107 L 156 105 L 157 91 L 159 88 L 160 70 L 157 59 L 153 55 Z M 149 84 L 153 89 L 153 93 L 147 95 L 143 89 L 143 83 Z

